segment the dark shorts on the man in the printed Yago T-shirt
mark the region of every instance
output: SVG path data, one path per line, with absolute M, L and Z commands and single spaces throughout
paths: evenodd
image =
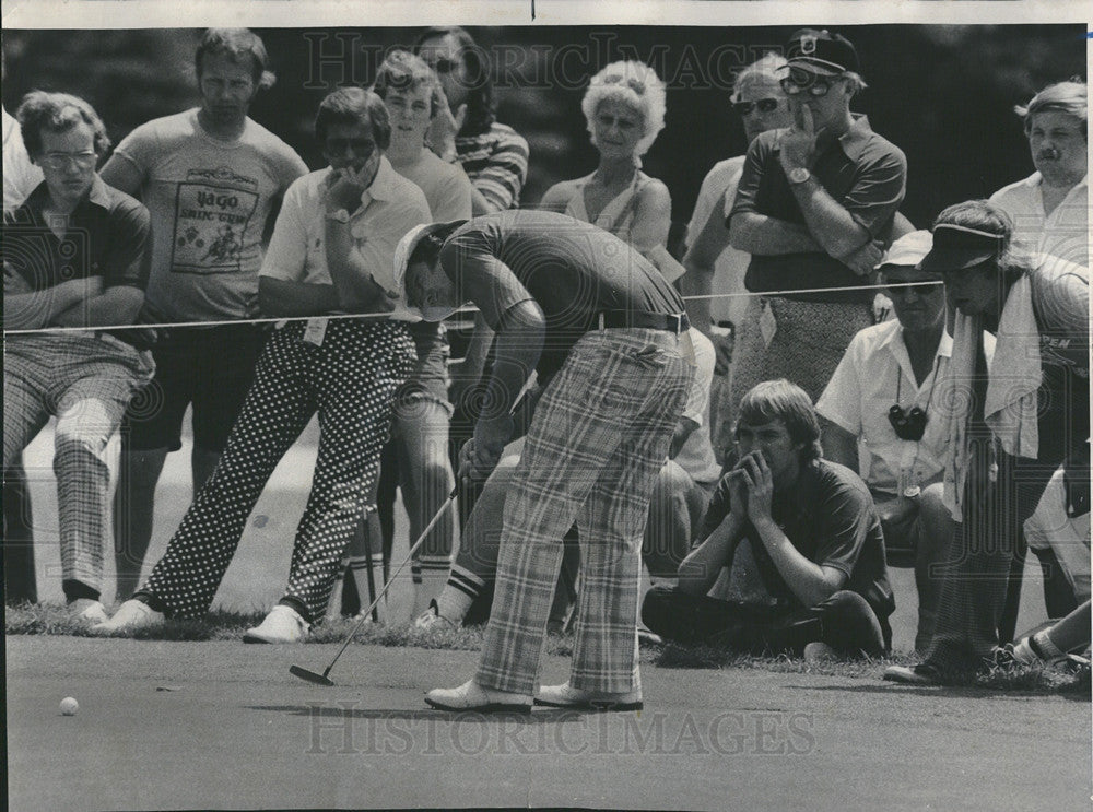
M 181 448 L 183 417 L 193 404 L 193 445 L 220 452 L 255 378 L 266 344 L 259 325 L 179 328 L 152 349 L 155 377 L 126 411 L 121 436 L 130 450 Z

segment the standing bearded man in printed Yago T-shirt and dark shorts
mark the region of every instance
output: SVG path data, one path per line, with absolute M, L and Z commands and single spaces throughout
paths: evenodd
M 129 133 L 103 179 L 152 214 L 146 321 L 230 321 L 258 315 L 263 232 L 285 189 L 307 166 L 247 114 L 273 84 L 262 40 L 247 28 L 210 28 L 193 67 L 201 106 Z M 190 463 L 198 493 L 220 460 L 254 380 L 266 341 L 256 325 L 161 331 L 155 378 L 122 424 L 115 496 L 118 595 L 132 591 L 152 538 L 155 485 L 167 454 L 181 447 L 193 407 Z

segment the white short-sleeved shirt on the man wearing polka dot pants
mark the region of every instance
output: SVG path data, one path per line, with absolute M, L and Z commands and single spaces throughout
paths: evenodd
M 319 169 L 289 187 L 260 275 L 285 282 L 332 284 L 327 268 L 324 203 L 331 173 L 330 167 Z M 395 247 L 415 225 L 428 222 L 424 192 L 381 157 L 372 185 L 361 193 L 361 207 L 350 216 L 349 227 L 373 280 L 396 299 L 391 318 L 406 321 L 421 318 L 407 310 L 406 292 L 395 290 Z

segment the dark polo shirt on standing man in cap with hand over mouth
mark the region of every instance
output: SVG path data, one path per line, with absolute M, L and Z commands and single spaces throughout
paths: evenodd
M 785 130 L 761 133 L 752 142 L 737 189 L 732 216 L 741 212 L 765 214 L 804 225 L 797 198 L 778 161 Z M 869 128 L 865 116 L 816 157 L 812 175 L 872 239 L 891 243 L 892 219 L 906 191 L 907 160 L 903 152 Z M 847 266 L 822 251 L 752 255 L 744 284 L 753 293 L 843 287 L 866 284 Z M 787 296 L 801 302 L 862 302 L 872 291 L 813 293 Z

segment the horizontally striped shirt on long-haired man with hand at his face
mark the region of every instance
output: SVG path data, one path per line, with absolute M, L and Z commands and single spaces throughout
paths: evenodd
M 528 142 L 512 127 L 495 121 L 479 136 L 458 136 L 456 160 L 496 211 L 519 207 L 528 176 Z

